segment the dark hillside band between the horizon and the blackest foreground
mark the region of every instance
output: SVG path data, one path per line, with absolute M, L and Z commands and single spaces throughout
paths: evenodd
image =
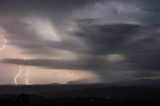
M 0 86 L 0 94 L 33 94 L 46 97 L 63 97 L 63 96 L 116 96 L 124 95 L 128 91 L 128 95 L 135 95 L 135 91 L 142 89 L 151 92 L 159 90 L 160 80 L 133 80 L 112 84 L 46 84 L 46 85 L 3 85 Z M 133 89 L 134 88 L 134 89 Z M 136 88 L 136 89 L 135 89 Z M 138 90 L 137 90 L 138 89 Z M 116 92 L 116 93 L 113 93 Z M 138 92 L 139 93 L 139 92 Z M 143 90 L 141 91 L 143 93 Z M 146 92 L 147 93 L 147 92 Z M 154 94 L 154 93 L 153 93 Z M 138 94 L 137 94 L 138 95 Z

